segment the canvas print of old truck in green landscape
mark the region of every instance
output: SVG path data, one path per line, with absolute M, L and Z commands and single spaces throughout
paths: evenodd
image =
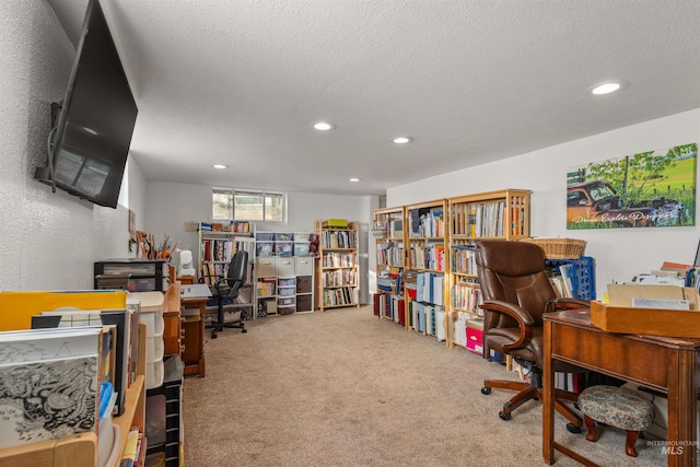
M 567 229 L 696 224 L 698 144 L 642 152 L 567 171 Z

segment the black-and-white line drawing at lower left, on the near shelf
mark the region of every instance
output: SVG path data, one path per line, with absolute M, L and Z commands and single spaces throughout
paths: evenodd
M 0 448 L 94 431 L 97 354 L 0 365 Z

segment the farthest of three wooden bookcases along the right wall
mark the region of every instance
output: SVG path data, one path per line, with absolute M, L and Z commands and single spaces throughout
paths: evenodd
M 384 208 L 374 211 L 372 234 L 375 240 L 377 316 L 406 326 L 405 300 L 399 277 L 404 273 L 406 208 Z M 397 290 L 398 288 L 398 290 Z

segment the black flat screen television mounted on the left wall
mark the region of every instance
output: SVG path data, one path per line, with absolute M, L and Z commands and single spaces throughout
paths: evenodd
M 56 126 L 48 165 L 35 178 L 117 207 L 138 108 L 98 0 L 88 4 L 78 55 Z

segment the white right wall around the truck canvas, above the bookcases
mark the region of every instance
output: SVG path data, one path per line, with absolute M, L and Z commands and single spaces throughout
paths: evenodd
M 596 290 L 658 269 L 664 260 L 692 264 L 700 226 L 567 230 L 567 168 L 700 141 L 700 109 L 672 115 L 503 161 L 455 171 L 387 190 L 387 206 L 495 190 L 533 190 L 530 235 L 582 238 L 596 262 Z

